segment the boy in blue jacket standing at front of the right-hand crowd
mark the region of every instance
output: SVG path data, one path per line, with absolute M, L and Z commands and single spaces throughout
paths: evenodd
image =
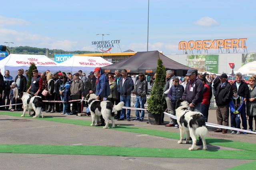
M 231 122 L 231 127 L 233 128 L 240 128 L 240 112 L 242 110 L 242 105 L 243 105 L 244 98 L 240 97 L 237 94 L 237 90 L 233 90 L 233 96 L 232 99 L 230 100 L 229 107 L 230 107 L 230 122 Z M 232 130 L 231 134 L 240 134 L 239 131 Z

